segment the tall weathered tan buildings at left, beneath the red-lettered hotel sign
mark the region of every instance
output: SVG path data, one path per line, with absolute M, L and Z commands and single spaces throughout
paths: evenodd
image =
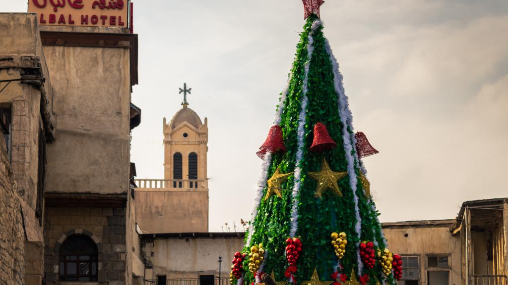
M 0 14 L 0 284 L 135 283 L 137 35 L 38 20 Z

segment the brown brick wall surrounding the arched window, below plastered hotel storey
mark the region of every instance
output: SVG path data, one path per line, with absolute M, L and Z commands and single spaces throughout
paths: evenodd
M 47 285 L 58 284 L 59 246 L 75 233 L 86 234 L 97 243 L 98 281 L 125 284 L 125 208 L 47 207 L 45 218 Z

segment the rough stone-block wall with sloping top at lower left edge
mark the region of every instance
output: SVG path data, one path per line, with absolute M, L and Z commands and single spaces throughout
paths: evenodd
M 0 134 L 3 135 L 2 132 Z M 24 284 L 24 232 L 16 183 L 5 149 L 0 151 L 0 284 Z

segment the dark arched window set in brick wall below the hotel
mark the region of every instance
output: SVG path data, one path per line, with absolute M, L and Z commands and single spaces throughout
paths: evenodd
M 69 236 L 60 245 L 60 281 L 97 281 L 97 245 L 83 234 Z

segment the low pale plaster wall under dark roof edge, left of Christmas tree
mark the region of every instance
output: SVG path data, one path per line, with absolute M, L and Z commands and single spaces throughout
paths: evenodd
M 168 279 L 218 275 L 218 257 L 223 257 L 221 277 L 229 277 L 230 258 L 240 251 L 243 238 L 157 238 L 143 242 L 143 252 L 152 269 L 146 279 L 166 275 Z

